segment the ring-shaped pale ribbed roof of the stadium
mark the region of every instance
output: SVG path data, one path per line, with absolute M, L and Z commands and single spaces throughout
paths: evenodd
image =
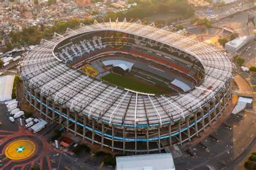
M 55 46 L 72 36 L 91 31 L 116 30 L 137 34 L 178 48 L 197 58 L 204 66 L 205 78 L 190 93 L 177 96 L 152 95 L 113 87 L 86 76 L 65 65 L 55 56 Z M 78 30 L 68 29 L 63 35 L 55 33 L 52 40 L 42 40 L 21 62 L 21 77 L 29 86 L 50 96 L 53 101 L 104 123 L 124 126 L 156 126 L 185 118 L 202 108 L 225 87 L 232 78 L 233 63 L 221 47 L 200 42 L 196 36 L 177 33 L 172 28 L 131 23 L 105 22 Z M 211 88 L 209 88 L 211 87 Z

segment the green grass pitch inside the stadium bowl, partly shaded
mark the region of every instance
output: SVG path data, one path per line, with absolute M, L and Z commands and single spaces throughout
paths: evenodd
M 129 74 L 122 76 L 110 73 L 102 77 L 102 79 L 112 84 L 116 84 L 117 86 L 143 93 L 168 94 L 172 92 L 171 89 L 158 86 L 157 84 L 149 83 Z

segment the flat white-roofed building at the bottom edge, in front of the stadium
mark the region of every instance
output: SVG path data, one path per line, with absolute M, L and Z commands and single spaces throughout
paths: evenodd
M 175 170 L 171 153 L 117 157 L 117 170 Z

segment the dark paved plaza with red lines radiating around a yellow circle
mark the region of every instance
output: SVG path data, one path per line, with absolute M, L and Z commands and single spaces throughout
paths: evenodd
M 84 152 L 82 155 L 71 156 L 63 148 L 55 148 L 49 143 L 46 128 L 39 133 L 32 133 L 20 126 L 19 121 L 9 121 L 8 110 L 0 103 L 0 169 L 113 169 L 102 165 L 105 158 Z M 47 133 L 50 135 L 50 133 Z

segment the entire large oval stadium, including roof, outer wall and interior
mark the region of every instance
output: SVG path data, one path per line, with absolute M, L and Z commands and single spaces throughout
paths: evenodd
M 115 152 L 163 152 L 218 121 L 231 101 L 223 48 L 173 27 L 118 20 L 55 33 L 23 56 L 26 100 Z

